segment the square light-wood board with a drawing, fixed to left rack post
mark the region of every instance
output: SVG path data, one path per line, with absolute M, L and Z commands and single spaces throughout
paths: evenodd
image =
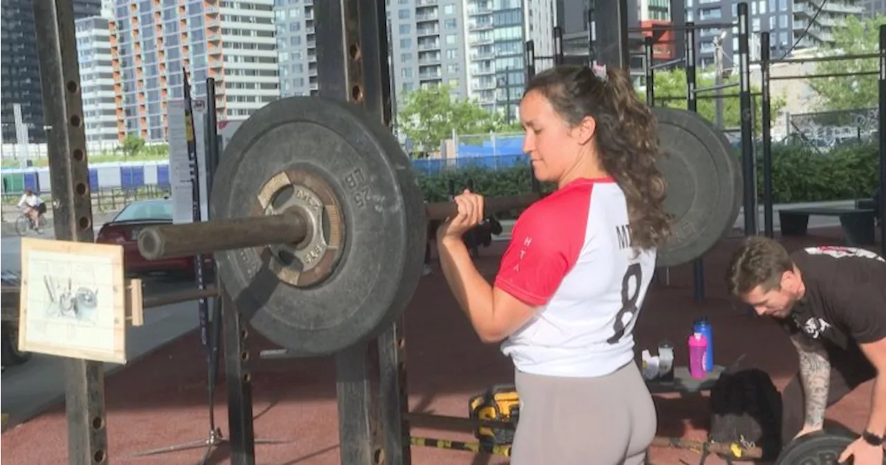
M 126 362 L 123 249 L 66 240 L 21 240 L 19 349 Z

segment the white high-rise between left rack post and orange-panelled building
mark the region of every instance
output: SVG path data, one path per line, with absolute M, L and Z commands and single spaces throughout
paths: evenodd
M 100 16 L 77 19 L 74 28 L 87 146 L 113 149 L 118 137 L 110 21 Z

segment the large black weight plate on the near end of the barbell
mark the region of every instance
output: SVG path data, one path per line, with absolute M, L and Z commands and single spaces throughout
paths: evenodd
M 308 287 L 281 281 L 261 248 L 215 255 L 237 311 L 295 355 L 333 354 L 376 336 L 400 316 L 421 277 L 425 209 L 408 156 L 391 131 L 360 107 L 294 96 L 256 111 L 221 156 L 211 217 L 246 217 L 278 172 L 323 179 L 338 198 L 344 249 L 328 278 Z

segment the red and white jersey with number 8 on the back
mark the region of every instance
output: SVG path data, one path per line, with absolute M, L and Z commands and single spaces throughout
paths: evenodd
M 633 360 L 656 251 L 630 247 L 625 194 L 577 179 L 517 218 L 495 286 L 538 311 L 501 345 L 518 370 L 599 377 Z

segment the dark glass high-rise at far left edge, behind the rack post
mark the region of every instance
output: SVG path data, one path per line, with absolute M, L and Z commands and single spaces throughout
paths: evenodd
M 101 0 L 74 0 L 74 18 L 95 16 Z M 43 89 L 37 56 L 34 6 L 30 0 L 0 3 L 0 139 L 15 140 L 12 106 L 21 105 L 22 122 L 31 142 L 45 141 Z

